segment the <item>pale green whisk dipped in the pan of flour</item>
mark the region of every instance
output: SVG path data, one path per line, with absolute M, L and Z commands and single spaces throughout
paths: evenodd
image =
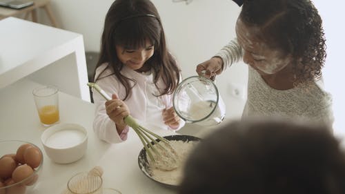
M 88 86 L 97 90 L 104 99 L 111 99 L 107 93 L 98 86 L 98 84 L 89 82 Z M 137 133 L 141 143 L 144 145 L 146 153 L 148 153 L 148 157 L 150 157 L 150 161 L 155 162 L 156 168 L 159 168 L 162 171 L 172 171 L 178 167 L 178 155 L 167 139 L 153 133 L 144 126 L 140 126 L 130 115 L 124 118 L 124 122 L 130 126 L 135 133 Z M 154 137 L 159 139 L 159 141 L 164 142 L 164 145 L 157 142 Z M 154 146 L 154 144 L 157 146 Z M 153 152 L 151 152 L 151 150 Z

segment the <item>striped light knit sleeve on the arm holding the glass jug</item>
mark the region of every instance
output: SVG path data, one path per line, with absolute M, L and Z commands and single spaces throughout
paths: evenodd
M 230 67 L 232 64 L 237 63 L 242 59 L 243 51 L 239 46 L 237 38 L 231 40 L 226 46 L 221 48 L 215 57 L 220 57 L 223 60 L 223 70 Z

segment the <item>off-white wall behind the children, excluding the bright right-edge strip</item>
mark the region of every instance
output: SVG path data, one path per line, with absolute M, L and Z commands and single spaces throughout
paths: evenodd
M 87 51 L 99 51 L 103 21 L 112 0 L 52 0 L 52 10 L 61 28 L 83 35 Z M 230 0 L 194 0 L 173 3 L 152 0 L 159 11 L 172 52 L 184 77 L 196 75 L 197 64 L 209 59 L 235 37 L 239 7 Z M 217 3 L 215 3 L 217 2 Z M 44 12 L 40 12 L 45 19 Z M 43 21 L 43 23 L 49 23 Z M 244 99 L 231 97 L 228 83 L 235 84 L 246 96 L 246 65 L 237 64 L 217 78 L 217 86 L 226 102 L 228 118 L 240 117 Z

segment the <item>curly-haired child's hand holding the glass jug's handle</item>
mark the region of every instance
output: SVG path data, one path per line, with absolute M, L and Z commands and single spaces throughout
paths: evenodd
M 197 65 L 197 74 L 206 78 L 215 79 L 216 75 L 221 74 L 223 60 L 220 57 L 212 57 L 207 61 Z

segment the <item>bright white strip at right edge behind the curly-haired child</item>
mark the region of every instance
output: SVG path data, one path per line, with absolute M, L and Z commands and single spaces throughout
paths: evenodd
M 333 95 L 335 134 L 345 137 L 344 1 L 313 0 L 324 22 L 327 57 L 324 83 Z

